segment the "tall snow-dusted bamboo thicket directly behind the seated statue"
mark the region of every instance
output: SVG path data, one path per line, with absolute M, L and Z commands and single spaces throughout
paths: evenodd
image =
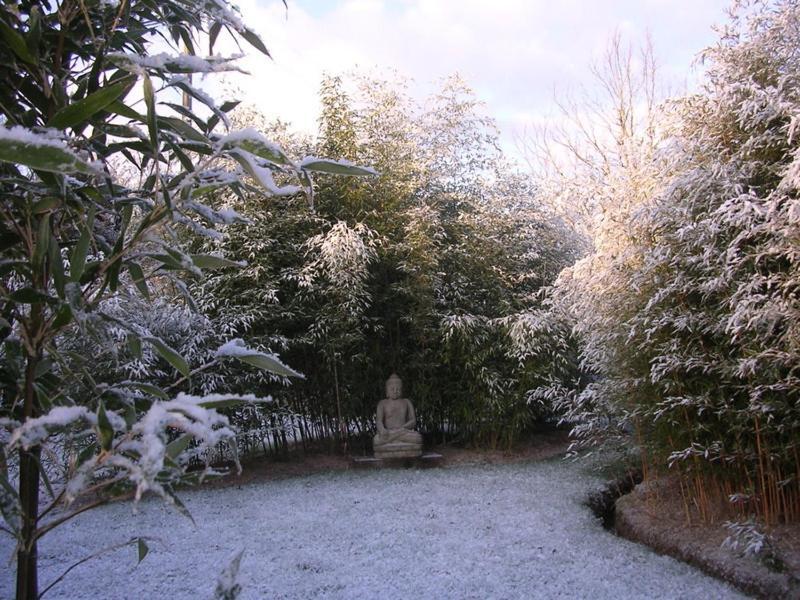
M 538 310 L 576 236 L 505 164 L 494 124 L 457 78 L 424 106 L 402 80 L 363 76 L 326 79 L 321 101 L 310 151 L 380 176 L 318 177 L 313 213 L 291 198 L 217 197 L 253 225 L 203 251 L 248 265 L 200 283 L 200 305 L 218 330 L 280 350 L 306 375 L 269 393 L 312 436 L 344 430 L 368 443 L 382 382 L 398 371 L 426 433 L 513 440 L 549 409 L 525 396 L 549 375 L 514 349 L 511 323 Z

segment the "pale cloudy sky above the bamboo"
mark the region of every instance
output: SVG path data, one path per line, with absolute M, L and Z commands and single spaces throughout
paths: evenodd
M 313 133 L 323 73 L 395 70 L 424 97 L 460 74 L 485 102 L 504 150 L 557 114 L 555 98 L 591 85 L 589 66 L 615 31 L 649 33 L 661 76 L 693 89 L 697 55 L 716 40 L 730 0 L 243 0 L 273 60 L 249 52 L 233 82 L 268 117 Z M 695 65 L 695 66 L 693 66 Z

